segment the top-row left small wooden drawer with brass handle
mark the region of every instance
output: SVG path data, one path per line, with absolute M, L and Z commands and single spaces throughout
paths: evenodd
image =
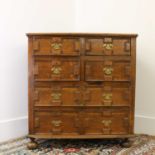
M 34 55 L 80 55 L 80 39 L 71 37 L 36 38 Z

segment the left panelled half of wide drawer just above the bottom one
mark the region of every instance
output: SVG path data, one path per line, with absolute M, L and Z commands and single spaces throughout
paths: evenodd
M 35 106 L 75 106 L 80 102 L 77 87 L 35 88 Z

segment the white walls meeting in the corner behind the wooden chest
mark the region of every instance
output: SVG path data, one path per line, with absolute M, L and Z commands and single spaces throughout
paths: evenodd
M 27 134 L 27 32 L 138 33 L 136 133 L 155 135 L 154 0 L 1 0 L 0 141 Z

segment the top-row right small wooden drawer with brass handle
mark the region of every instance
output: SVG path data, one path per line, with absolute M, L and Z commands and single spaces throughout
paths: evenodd
M 130 38 L 88 38 L 86 55 L 130 55 Z

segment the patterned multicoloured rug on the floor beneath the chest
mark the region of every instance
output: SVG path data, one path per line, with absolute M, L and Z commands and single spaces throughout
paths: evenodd
M 155 137 L 136 135 L 125 148 L 120 140 L 38 140 L 39 147 L 28 150 L 30 139 L 21 137 L 0 143 L 0 155 L 155 155 Z

